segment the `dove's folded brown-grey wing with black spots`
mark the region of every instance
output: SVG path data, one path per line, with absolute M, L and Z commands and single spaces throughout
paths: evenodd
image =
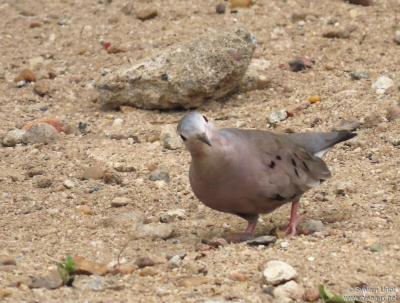
M 262 130 L 238 131 L 248 142 L 250 157 L 260 161 L 264 196 L 278 201 L 298 200 L 305 191 L 331 177 L 325 162 L 285 135 Z

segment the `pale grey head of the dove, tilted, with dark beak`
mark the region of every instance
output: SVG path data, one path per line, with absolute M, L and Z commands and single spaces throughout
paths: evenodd
M 197 142 L 202 142 L 211 146 L 207 137 L 207 123 L 208 120 L 205 116 L 202 116 L 197 111 L 192 111 L 180 119 L 176 130 L 185 145 L 187 143 L 197 144 Z

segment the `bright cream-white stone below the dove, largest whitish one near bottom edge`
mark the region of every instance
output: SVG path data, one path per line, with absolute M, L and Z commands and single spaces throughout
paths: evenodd
M 262 275 L 266 284 L 276 285 L 296 278 L 297 272 L 282 261 L 272 260 L 266 263 Z

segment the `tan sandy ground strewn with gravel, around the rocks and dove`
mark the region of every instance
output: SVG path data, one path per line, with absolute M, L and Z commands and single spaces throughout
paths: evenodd
M 158 274 L 153 277 L 141 277 L 139 271 L 124 276 L 108 274 L 106 279 L 123 285 L 120 290 L 27 288 L 32 277 L 55 268 L 46 255 L 57 260 L 67 254 L 79 255 L 104 265 L 115 261 L 122 245 L 139 228 L 134 222 L 118 217 L 124 213 L 142 211 L 144 223 L 150 226 L 157 224 L 163 213 L 176 208 L 185 210 L 188 217 L 171 223 L 175 228 L 171 239 L 131 241 L 122 253 L 128 264 L 137 257 L 165 257 L 182 252 L 190 256 L 201 239 L 226 237 L 245 228 L 240 218 L 210 210 L 193 197 L 187 151 L 165 150 L 162 141 L 155 141 L 155 150 L 148 148 L 149 141 L 163 125 L 176 125 L 186 111 L 104 111 L 93 100 L 94 84 L 105 68 L 128 66 L 167 45 L 205 31 L 242 25 L 254 33 L 258 42 L 253 57 L 270 61 L 268 76 L 272 83 L 268 89 L 231 94 L 219 100 L 221 109 L 204 113 L 218 127 L 267 129 L 267 115 L 287 104 L 318 95 L 320 101 L 271 129 L 328 131 L 342 119 L 356 118 L 362 123 L 375 113 L 386 116 L 390 104 L 399 99 L 398 88 L 389 94 L 378 94 L 371 88 L 371 83 L 382 75 L 398 86 L 400 46 L 392 39 L 400 27 L 399 1 L 375 0 L 372 6 L 363 7 L 341 0 L 256 0 L 249 8 L 237 8 L 236 13 L 230 13 L 229 2 L 223 1 L 226 12 L 216 14 L 218 2 L 212 0 L 141 0 L 134 1 L 130 15 L 120 11 L 125 3 L 121 0 L 0 3 L 0 137 L 25 121 L 40 118 L 63 120 L 74 127 L 79 122 L 87 124 L 82 131 L 61 133 L 55 143 L 0 147 L 0 195 L 3 195 L 0 253 L 14 257 L 17 264 L 0 266 L 0 287 L 11 292 L 2 300 L 271 302 L 272 297 L 262 292 L 259 265 L 272 259 L 295 267 L 296 281 L 304 289 L 315 290 L 318 283 L 325 284 L 333 293 L 345 293 L 350 286 L 387 286 L 394 287 L 400 295 L 397 188 L 400 151 L 391 143 L 399 138 L 400 128 L 394 119 L 386 127 L 375 127 L 376 123 L 362 125 L 350 144 L 338 144 L 324 156 L 333 177 L 304 195 L 301 212 L 307 212 L 307 219 L 321 220 L 325 231 L 278 239 L 269 247 L 229 244 L 204 252 L 197 260 L 184 259 L 185 266 L 178 270 L 156 265 Z M 135 17 L 135 11 L 150 7 L 157 8 L 156 18 L 142 22 Z M 351 9 L 357 12 L 354 18 L 350 17 Z M 292 20 L 293 12 L 307 17 Z M 36 21 L 40 26 L 30 28 Z M 349 38 L 322 36 L 323 32 L 342 29 L 351 30 Z M 107 54 L 101 48 L 102 42 L 126 47 L 128 51 Z M 82 48 L 88 51 L 79 54 Z M 297 55 L 314 60 L 314 66 L 297 73 L 290 71 L 287 62 Z M 285 64 L 283 68 L 279 68 L 281 63 Z M 326 63 L 335 69 L 326 70 Z M 57 74 L 51 81 L 50 96 L 35 94 L 33 83 L 21 88 L 15 86 L 12 80 L 24 68 L 30 68 L 37 79 L 48 78 L 49 71 Z M 350 71 L 365 71 L 370 78 L 352 80 Z M 284 92 L 284 84 L 292 85 L 293 90 Z M 37 109 L 34 105 L 39 102 L 44 102 L 48 109 Z M 104 131 L 115 131 L 107 115 L 120 117 L 123 129 L 137 135 L 140 143 L 104 135 Z M 137 171 L 122 173 L 123 183 L 118 185 L 81 180 L 84 169 L 90 165 L 106 168 L 116 162 L 133 165 Z M 149 164 L 165 167 L 171 182 L 159 189 L 154 186 L 148 180 Z M 29 172 L 35 170 L 41 170 L 40 174 L 29 177 Z M 12 172 L 26 175 L 25 180 L 13 182 L 9 178 Z M 67 179 L 74 181 L 74 187 L 60 190 Z M 51 186 L 40 188 L 43 182 Z M 102 185 L 102 190 L 89 193 L 97 184 Z M 346 184 L 344 192 L 338 193 L 337 187 L 343 184 Z M 325 198 L 317 192 L 325 192 Z M 131 203 L 110 207 L 114 197 L 130 198 Z M 81 204 L 89 207 L 91 215 L 77 211 Z M 255 236 L 273 234 L 285 226 L 289 212 L 290 205 L 285 205 L 262 215 Z M 205 218 L 196 219 L 198 214 L 205 214 Z M 282 242 L 287 243 L 281 245 Z M 377 243 L 383 250 L 371 252 L 371 245 Z M 232 273 L 242 274 L 245 281 L 231 279 Z M 181 277 L 191 275 L 205 275 L 207 283 L 175 286 Z M 14 281 L 20 282 L 19 288 L 12 287 Z

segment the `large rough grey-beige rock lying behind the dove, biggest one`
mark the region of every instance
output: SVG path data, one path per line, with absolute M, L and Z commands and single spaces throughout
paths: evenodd
M 97 102 L 146 109 L 197 107 L 240 83 L 255 46 L 253 35 L 240 27 L 198 35 L 105 76 L 97 84 Z

